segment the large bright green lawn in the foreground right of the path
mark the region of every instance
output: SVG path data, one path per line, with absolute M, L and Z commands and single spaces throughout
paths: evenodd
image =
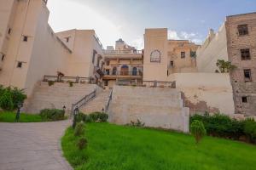
M 61 141 L 64 156 L 75 169 L 256 169 L 255 145 L 212 137 L 196 145 L 187 134 L 108 123 L 88 123 L 85 128 L 86 149 L 78 150 L 79 137 L 71 127 Z

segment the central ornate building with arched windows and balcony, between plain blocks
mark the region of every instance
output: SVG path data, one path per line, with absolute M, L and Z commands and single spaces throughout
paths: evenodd
M 105 86 L 142 85 L 143 84 L 143 52 L 133 48 L 122 39 L 116 41 L 115 49 L 105 50 Z

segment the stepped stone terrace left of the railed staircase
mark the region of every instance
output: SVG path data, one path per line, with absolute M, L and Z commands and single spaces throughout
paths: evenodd
M 26 100 L 24 110 L 36 114 L 43 109 L 62 109 L 65 105 L 66 111 L 69 112 L 73 103 L 95 89 L 100 91 L 95 84 L 73 83 L 73 87 L 69 87 L 69 83 L 64 82 L 55 82 L 52 86 L 49 86 L 48 82 L 40 82 L 32 97 Z

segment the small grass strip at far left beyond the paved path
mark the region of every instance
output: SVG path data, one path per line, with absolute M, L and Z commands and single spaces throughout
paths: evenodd
M 0 112 L 0 122 L 15 122 L 16 113 L 2 111 Z M 19 122 L 44 122 L 39 115 L 28 115 L 25 113 L 20 114 Z

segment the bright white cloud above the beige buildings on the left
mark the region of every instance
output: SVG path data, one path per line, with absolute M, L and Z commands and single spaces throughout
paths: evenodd
M 122 26 L 114 24 L 93 8 L 70 0 L 50 0 L 49 25 L 54 31 L 70 29 L 95 30 L 104 47 L 121 37 Z

